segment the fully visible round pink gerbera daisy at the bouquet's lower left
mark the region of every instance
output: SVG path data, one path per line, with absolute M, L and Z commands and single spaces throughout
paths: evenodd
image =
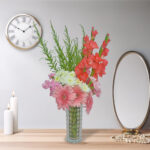
M 72 87 L 62 86 L 55 89 L 54 97 L 56 98 L 58 109 L 69 109 L 76 95 Z

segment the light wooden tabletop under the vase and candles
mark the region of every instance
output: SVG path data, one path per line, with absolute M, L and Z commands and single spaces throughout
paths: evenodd
M 20 130 L 9 136 L 1 130 L 0 150 L 150 150 L 150 144 L 114 142 L 111 137 L 120 133 L 120 130 L 86 129 L 82 143 L 69 144 L 65 142 L 63 129 Z

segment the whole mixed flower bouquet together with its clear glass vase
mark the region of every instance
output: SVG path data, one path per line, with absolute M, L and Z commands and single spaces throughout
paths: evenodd
M 40 37 L 36 28 L 45 60 L 52 72 L 49 80 L 42 86 L 50 90 L 50 96 L 55 98 L 58 109 L 66 110 L 66 140 L 78 143 L 82 139 L 82 108 L 85 107 L 89 113 L 93 105 L 92 96 L 99 97 L 101 93 L 98 78 L 105 74 L 108 64 L 105 57 L 109 52 L 107 49 L 110 42 L 109 34 L 99 48 L 95 42 L 97 30 L 92 27 L 89 37 L 81 26 L 83 37 L 80 48 L 78 39 L 71 39 L 65 26 L 64 47 L 62 47 L 52 24 L 51 29 L 55 46 L 53 50 L 48 50 L 47 42 Z M 94 49 L 97 51 L 94 52 Z

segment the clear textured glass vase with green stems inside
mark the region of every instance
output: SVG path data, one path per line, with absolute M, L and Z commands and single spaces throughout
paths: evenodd
M 66 141 L 80 143 L 82 140 L 82 106 L 66 109 L 66 119 Z

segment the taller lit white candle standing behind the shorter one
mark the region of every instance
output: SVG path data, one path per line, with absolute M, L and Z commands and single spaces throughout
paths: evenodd
M 14 91 L 12 92 L 12 97 L 10 98 L 10 110 L 13 113 L 13 130 L 15 133 L 18 131 L 18 100 Z

